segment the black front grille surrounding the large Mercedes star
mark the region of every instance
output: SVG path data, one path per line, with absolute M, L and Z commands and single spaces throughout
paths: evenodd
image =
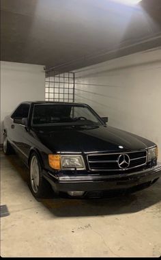
M 122 168 L 119 166 L 120 155 L 128 155 L 126 158 L 129 158 L 129 166 L 127 164 L 122 164 Z M 144 166 L 147 163 L 147 151 L 87 155 L 87 161 L 90 170 L 130 170 Z

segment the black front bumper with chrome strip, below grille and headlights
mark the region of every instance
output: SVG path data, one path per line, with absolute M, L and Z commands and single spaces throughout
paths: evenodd
M 121 173 L 117 175 L 83 175 L 77 174 L 68 176 L 55 176 L 51 172 L 44 171 L 44 177 L 53 186 L 53 189 L 58 192 L 68 191 L 105 191 L 105 190 L 118 190 L 129 189 L 143 183 L 152 184 L 154 180 L 161 177 L 161 164 L 146 170 L 140 170 L 133 173 Z

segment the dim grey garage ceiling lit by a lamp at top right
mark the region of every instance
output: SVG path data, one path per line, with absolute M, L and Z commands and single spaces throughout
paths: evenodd
M 1 0 L 1 60 L 69 71 L 158 47 L 160 13 L 160 0 Z

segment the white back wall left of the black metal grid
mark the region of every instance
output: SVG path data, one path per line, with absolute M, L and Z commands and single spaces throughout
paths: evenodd
M 44 88 L 44 66 L 1 62 L 1 133 L 4 117 L 20 102 L 44 100 Z

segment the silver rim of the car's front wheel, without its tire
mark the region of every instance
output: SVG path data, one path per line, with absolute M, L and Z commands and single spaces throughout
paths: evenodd
M 33 192 L 38 192 L 38 187 L 40 183 L 40 172 L 38 166 L 38 159 L 33 155 L 30 164 L 30 179 L 31 179 L 31 187 Z

